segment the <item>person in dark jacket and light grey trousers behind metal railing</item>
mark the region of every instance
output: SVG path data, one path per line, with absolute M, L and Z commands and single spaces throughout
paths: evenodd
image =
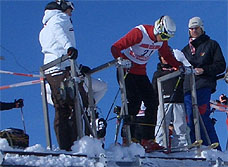
M 158 97 L 157 78 L 176 71 L 176 69 L 170 66 L 163 57 L 159 56 L 159 60 L 160 63 L 157 65 L 157 71 L 154 72 L 152 78 L 152 85 L 156 92 L 156 97 Z M 155 128 L 155 134 L 157 134 L 156 141 L 161 146 L 165 146 L 165 143 L 163 143 L 164 130 L 161 127 L 161 124 L 165 119 L 167 134 L 169 134 L 168 126 L 171 123 L 173 125 L 172 142 L 169 141 L 172 147 L 186 146 L 188 143 L 186 137 L 187 123 L 184 109 L 183 78 L 178 76 L 163 82 L 162 85 L 166 114 L 165 117 L 162 117 L 163 113 L 160 109 L 161 106 L 158 106 L 157 125 Z

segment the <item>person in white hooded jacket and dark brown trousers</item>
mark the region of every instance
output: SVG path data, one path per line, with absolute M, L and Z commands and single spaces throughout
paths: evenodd
M 64 0 L 56 0 L 46 5 L 42 20 L 44 27 L 39 34 L 44 64 L 66 54 L 77 58 L 78 51 L 71 20 L 73 10 L 73 3 Z M 73 142 L 78 138 L 73 100 L 64 100 L 60 94 L 61 82 L 70 76 L 69 66 L 70 62 L 65 61 L 45 71 L 49 84 L 47 87 L 50 88 L 47 90 L 48 95 L 51 93 L 51 100 L 49 98 L 48 101 L 55 107 L 55 134 L 59 148 L 66 151 L 71 151 Z M 99 90 L 94 90 L 94 94 L 98 92 L 100 94 L 98 100 L 100 100 L 107 90 L 107 85 L 102 81 L 96 81 Z

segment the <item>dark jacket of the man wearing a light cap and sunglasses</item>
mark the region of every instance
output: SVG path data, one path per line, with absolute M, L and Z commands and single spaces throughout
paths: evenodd
M 196 75 L 196 89 L 211 88 L 212 93 L 216 90 L 216 75 L 225 71 L 226 62 L 219 44 L 203 34 L 191 42 L 195 47 L 195 54 L 192 55 L 189 45 L 182 49 L 185 57 L 194 68 L 203 68 L 202 75 Z M 184 93 L 190 91 L 189 75 L 185 77 Z

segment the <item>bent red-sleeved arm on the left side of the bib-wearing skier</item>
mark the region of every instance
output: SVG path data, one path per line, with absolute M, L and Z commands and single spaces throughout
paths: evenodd
M 114 58 L 125 57 L 122 50 L 133 46 L 142 40 L 142 32 L 138 28 L 133 28 L 124 37 L 114 43 L 111 47 L 111 52 Z

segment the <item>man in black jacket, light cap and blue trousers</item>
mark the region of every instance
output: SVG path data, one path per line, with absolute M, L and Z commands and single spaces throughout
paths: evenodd
M 205 34 L 204 25 L 199 17 L 189 20 L 189 43 L 182 52 L 195 70 L 197 103 L 200 115 L 207 129 L 211 143 L 219 142 L 210 118 L 210 98 L 216 90 L 216 75 L 225 71 L 226 63 L 219 44 Z M 191 129 L 191 141 L 195 141 L 192 101 L 189 76 L 184 80 L 184 102 L 187 112 L 187 123 Z M 201 138 L 208 145 L 206 135 L 201 128 Z M 221 150 L 221 147 L 218 147 Z

